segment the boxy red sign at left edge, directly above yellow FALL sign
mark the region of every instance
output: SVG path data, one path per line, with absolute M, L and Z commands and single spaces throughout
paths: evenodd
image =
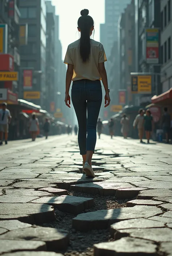
M 14 58 L 10 54 L 0 54 L 0 71 L 13 71 Z

